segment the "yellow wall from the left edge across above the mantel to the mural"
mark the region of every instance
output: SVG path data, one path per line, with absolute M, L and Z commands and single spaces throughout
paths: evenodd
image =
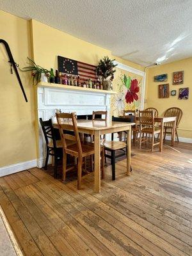
M 57 56 L 97 65 L 100 58 L 111 51 L 90 44 L 58 29 L 37 22 L 20 19 L 0 10 L 0 35 L 12 49 L 15 61 L 26 66 L 27 57 L 45 68 L 57 68 Z M 142 70 L 142 67 L 116 58 L 117 61 Z M 0 45 L 0 167 L 30 161 L 38 157 L 38 143 L 35 134 L 34 86 L 30 74 L 19 72 L 29 102 L 24 102 L 17 79 L 10 75 L 8 57 Z

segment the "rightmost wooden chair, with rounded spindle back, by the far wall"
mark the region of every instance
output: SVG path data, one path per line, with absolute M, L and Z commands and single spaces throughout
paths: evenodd
M 175 127 L 175 134 L 177 136 L 177 141 L 179 142 L 179 136 L 177 133 L 177 128 L 179 127 L 180 120 L 182 118 L 182 110 L 180 108 L 168 108 L 164 112 L 164 116 L 177 116 L 176 120 L 176 127 Z M 171 131 L 167 131 L 167 129 L 170 129 Z M 164 124 L 164 140 L 166 138 L 166 134 L 172 134 L 173 129 L 173 122 L 168 122 Z

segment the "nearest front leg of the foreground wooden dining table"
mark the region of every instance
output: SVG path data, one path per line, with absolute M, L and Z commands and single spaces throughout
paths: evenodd
M 95 193 L 100 193 L 100 131 L 94 133 L 95 150 Z

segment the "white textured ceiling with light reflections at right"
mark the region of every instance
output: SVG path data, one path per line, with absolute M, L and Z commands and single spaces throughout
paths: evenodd
M 0 0 L 0 9 L 144 66 L 192 56 L 192 0 Z

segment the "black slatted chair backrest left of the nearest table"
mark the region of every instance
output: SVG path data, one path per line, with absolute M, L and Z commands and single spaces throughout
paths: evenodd
M 52 127 L 52 120 L 43 121 L 42 118 L 39 118 L 40 124 L 42 126 L 42 131 L 44 132 L 46 145 L 49 143 L 49 140 L 52 140 L 53 147 L 56 148 L 56 140 L 54 137 L 54 129 Z

